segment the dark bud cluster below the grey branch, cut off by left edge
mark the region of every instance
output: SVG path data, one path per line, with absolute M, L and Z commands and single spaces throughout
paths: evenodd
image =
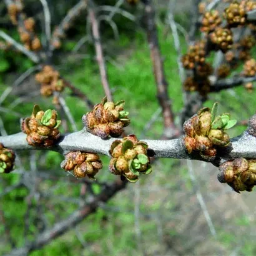
M 15 154 L 0 143 L 0 174 L 9 174 L 14 169 Z

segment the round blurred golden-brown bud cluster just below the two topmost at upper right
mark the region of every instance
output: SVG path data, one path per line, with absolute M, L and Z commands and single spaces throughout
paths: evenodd
M 210 41 L 214 44 L 215 50 L 227 52 L 229 49 L 232 49 L 233 33 L 230 29 L 217 27 L 215 31 L 210 33 Z

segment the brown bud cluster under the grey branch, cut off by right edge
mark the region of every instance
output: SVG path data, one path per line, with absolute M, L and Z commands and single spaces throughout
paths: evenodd
M 221 183 L 229 184 L 235 192 L 252 191 L 256 185 L 256 160 L 242 157 L 229 160 L 220 165 L 218 179 Z

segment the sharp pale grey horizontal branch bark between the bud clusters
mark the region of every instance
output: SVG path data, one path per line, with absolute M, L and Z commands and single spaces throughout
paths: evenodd
M 57 142 L 51 148 L 32 147 L 27 144 L 26 134 L 19 132 L 18 134 L 2 136 L 0 137 L 0 143 L 4 147 L 8 147 L 12 150 L 52 150 L 61 154 L 66 154 L 70 151 L 86 151 L 94 152 L 98 154 L 107 155 L 110 157 L 109 149 L 114 138 L 102 140 L 100 137 L 89 134 L 88 132 L 81 130 L 71 134 L 62 135 Z M 163 158 L 175 158 L 175 159 L 194 159 L 202 160 L 202 157 L 198 154 L 188 154 L 185 149 L 183 139 L 172 139 L 172 140 L 144 140 L 149 145 L 149 152 L 154 157 Z M 247 131 L 238 137 L 231 139 L 232 149 L 230 152 L 225 150 L 220 152 L 217 160 L 212 162 L 214 165 L 218 165 L 227 159 L 233 159 L 234 157 L 245 157 L 248 159 L 256 159 L 256 138 L 250 135 Z

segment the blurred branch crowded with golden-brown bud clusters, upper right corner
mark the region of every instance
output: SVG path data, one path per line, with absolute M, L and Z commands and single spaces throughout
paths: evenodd
M 225 58 L 222 57 L 215 67 L 214 79 L 217 81 L 229 76 L 239 63 L 245 61 L 247 62 L 241 76 L 254 76 L 256 67 L 254 59 L 250 59 L 250 49 L 255 46 L 255 24 L 247 19 L 247 12 L 255 8 L 255 1 L 232 1 L 223 10 L 222 15 L 216 9 L 205 8 L 204 2 L 199 4 L 199 11 L 202 14 L 200 31 L 204 34 L 203 39 L 190 46 L 187 54 L 182 57 L 183 66 L 187 70 L 187 79 L 184 81 L 186 91 L 198 91 L 204 97 L 215 91 L 215 83 L 211 81 L 213 69 L 211 64 L 206 62 L 211 51 L 222 51 L 225 54 Z M 242 37 L 242 34 L 245 36 Z M 228 88 L 229 86 L 222 89 Z M 252 84 L 245 88 L 251 91 Z M 217 87 L 216 91 L 219 89 Z

